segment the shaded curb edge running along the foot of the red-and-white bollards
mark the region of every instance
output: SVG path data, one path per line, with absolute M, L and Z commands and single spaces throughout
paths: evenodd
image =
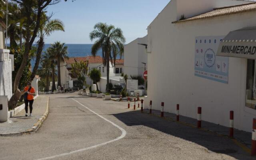
M 148 113 L 146 113 L 146 112 L 143 112 L 143 113 L 144 113 L 144 114 L 148 114 Z M 154 113 L 149 114 L 149 115 L 156 116 L 156 117 L 159 117 L 159 118 L 163 118 L 163 119 L 165 119 L 165 120 L 170 120 L 170 121 L 172 121 L 172 122 L 176 122 L 176 123 L 179 123 L 179 124 L 183 124 L 183 125 L 185 125 L 185 126 L 189 126 L 189 127 L 192 127 L 192 128 L 197 128 L 197 126 L 195 126 L 195 125 L 193 125 L 193 124 L 189 124 L 189 123 L 187 123 L 187 122 L 180 122 L 180 121 L 177 122 L 176 120 L 174 120 L 173 118 L 170 118 L 170 117 L 160 117 L 160 115 L 154 114 Z M 250 149 L 250 148 L 248 148 L 247 146 L 245 146 L 244 144 L 242 144 L 242 142 L 239 142 L 239 141 L 236 140 L 235 138 L 229 138 L 227 135 L 218 134 L 218 133 L 216 133 L 216 132 L 214 132 L 214 131 L 212 131 L 212 130 L 209 130 L 209 129 L 207 129 L 207 128 L 199 128 L 199 130 L 202 130 L 202 131 L 205 131 L 205 132 L 210 132 L 210 133 L 212 133 L 212 134 L 216 134 L 217 136 L 222 136 L 222 137 L 228 138 L 228 139 L 232 140 L 232 141 L 234 142 L 234 144 L 236 144 L 237 146 L 239 146 L 240 148 L 242 148 L 242 150 L 244 150 L 244 152 L 249 153 L 249 154 L 251 153 L 251 149 Z

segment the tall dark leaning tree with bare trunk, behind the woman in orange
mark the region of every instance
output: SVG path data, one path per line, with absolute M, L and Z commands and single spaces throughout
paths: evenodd
M 23 59 L 16 73 L 13 90 L 14 94 L 10 98 L 8 102 L 8 107 L 10 109 L 15 108 L 18 99 L 20 98 L 20 90 L 18 89 L 22 73 L 27 65 L 27 60 L 29 58 L 30 50 L 32 49 L 32 45 L 34 40 L 38 34 L 38 30 L 41 23 L 42 14 L 45 8 L 51 4 L 56 4 L 61 0 L 12 0 L 12 2 L 16 2 L 18 6 L 21 8 L 22 13 L 24 14 L 24 54 Z

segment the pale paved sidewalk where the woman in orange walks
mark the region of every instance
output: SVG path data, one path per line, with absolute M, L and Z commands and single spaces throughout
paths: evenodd
M 47 96 L 40 95 L 34 100 L 32 117 L 25 116 L 25 109 L 10 118 L 7 122 L 0 123 L 0 136 L 18 136 L 30 130 L 46 111 Z M 29 107 L 28 107 L 29 113 Z

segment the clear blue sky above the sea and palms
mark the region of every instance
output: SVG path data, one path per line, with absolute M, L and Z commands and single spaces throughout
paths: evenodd
M 65 32 L 55 32 L 46 43 L 91 44 L 89 33 L 98 22 L 113 24 L 123 30 L 126 44 L 146 36 L 147 26 L 170 0 L 68 0 L 47 8 L 52 18 L 65 24 Z

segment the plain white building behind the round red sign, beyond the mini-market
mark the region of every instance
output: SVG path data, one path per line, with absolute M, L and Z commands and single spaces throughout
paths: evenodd
M 137 38 L 124 46 L 124 74 L 129 78 L 130 75 L 143 76 L 145 68 L 147 69 L 148 56 L 145 46 L 141 44 L 147 45 L 147 36 Z

